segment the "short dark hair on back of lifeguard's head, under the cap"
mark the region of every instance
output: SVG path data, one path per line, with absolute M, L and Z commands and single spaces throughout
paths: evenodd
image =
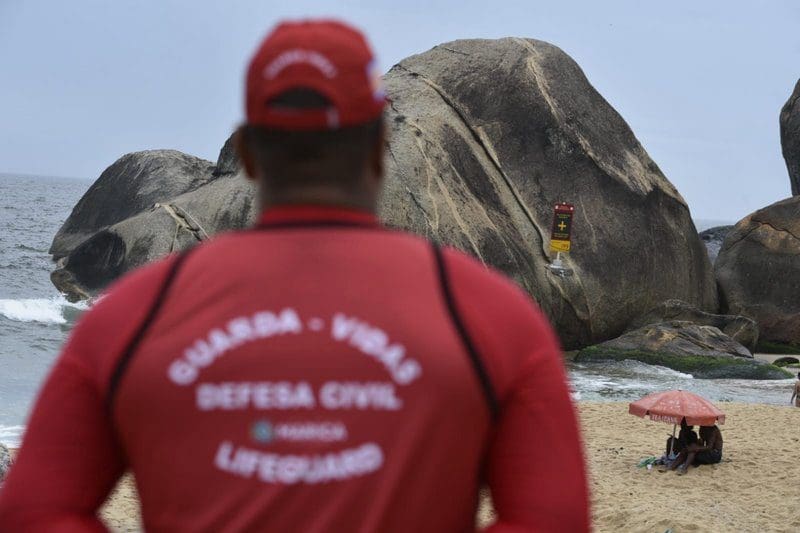
M 269 101 L 273 108 L 325 111 L 317 92 L 295 89 Z M 272 189 L 336 183 L 355 187 L 378 142 L 382 120 L 325 131 L 286 131 L 245 125 L 242 139 Z

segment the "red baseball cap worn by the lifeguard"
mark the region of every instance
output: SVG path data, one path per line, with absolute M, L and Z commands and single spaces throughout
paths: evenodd
M 305 89 L 330 106 L 273 105 Z M 364 35 L 335 20 L 283 22 L 261 43 L 247 70 L 247 122 L 283 130 L 326 130 L 378 119 L 386 104 L 375 57 Z

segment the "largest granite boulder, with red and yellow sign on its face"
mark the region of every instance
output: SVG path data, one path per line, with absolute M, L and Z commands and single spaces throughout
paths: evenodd
M 455 41 L 401 61 L 385 82 L 383 218 L 512 276 L 567 349 L 616 337 L 668 298 L 716 310 L 686 203 L 559 48 Z M 561 200 L 576 206 L 571 277 L 545 268 Z

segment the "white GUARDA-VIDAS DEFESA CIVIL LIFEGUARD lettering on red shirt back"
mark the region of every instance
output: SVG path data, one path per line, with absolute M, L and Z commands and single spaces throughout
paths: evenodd
M 386 378 L 203 379 L 207 371 L 206 379 L 225 374 L 224 369 L 215 373 L 210 367 L 235 358 L 237 349 L 247 344 L 265 343 L 265 349 L 259 350 L 264 353 L 270 339 L 305 335 L 317 337 L 321 346 L 326 342 L 346 345 L 362 356 L 365 367 L 377 365 Z M 286 485 L 345 481 L 380 470 L 385 452 L 380 443 L 362 440 L 366 426 L 355 412 L 403 410 L 402 389 L 422 376 L 420 362 L 382 327 L 342 312 L 302 316 L 291 307 L 262 310 L 218 324 L 185 346 L 166 370 L 169 381 L 193 391 L 198 411 L 239 411 L 249 419 L 242 420 L 241 427 L 249 444 L 235 443 L 230 436 L 222 440 L 213 458 L 216 468 Z M 348 427 L 351 421 L 358 432 Z M 314 445 L 307 445 L 311 443 Z

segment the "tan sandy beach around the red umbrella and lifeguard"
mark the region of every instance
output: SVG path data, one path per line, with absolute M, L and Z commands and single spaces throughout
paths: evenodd
M 727 415 L 722 462 L 678 476 L 636 467 L 662 452 L 672 426 L 629 415 L 627 402 L 579 404 L 596 531 L 800 531 L 800 409 L 717 405 Z M 114 531 L 140 530 L 130 477 L 102 515 Z M 491 517 L 484 501 L 479 522 Z

